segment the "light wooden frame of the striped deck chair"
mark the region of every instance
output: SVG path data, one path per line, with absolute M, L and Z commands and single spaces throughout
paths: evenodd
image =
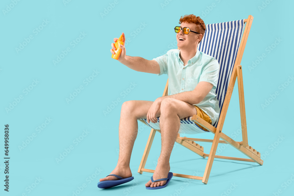
M 242 66 L 240 65 L 240 62 L 242 60 L 243 52 L 245 49 L 245 45 L 248 39 L 248 35 L 250 32 L 250 27 L 253 21 L 253 16 L 249 15 L 248 19 L 244 19 L 244 23 L 247 23 L 244 28 L 243 36 L 240 42 L 239 50 L 236 56 L 235 64 L 232 70 L 230 82 L 228 85 L 228 89 L 226 92 L 225 100 L 223 102 L 223 108 L 220 113 L 218 125 L 215 128 L 208 122 L 204 121 L 202 118 L 199 118 L 197 115 L 193 115 L 192 120 L 194 122 L 197 122 L 207 130 L 209 130 L 211 133 L 215 134 L 213 140 L 212 139 L 197 139 L 197 138 L 187 138 L 187 137 L 180 137 L 180 134 L 178 134 L 176 142 L 179 144 L 185 146 L 186 148 L 190 149 L 191 151 L 195 152 L 196 154 L 200 155 L 203 158 L 208 157 L 208 161 L 206 164 L 206 168 L 204 171 L 204 175 L 201 176 L 192 176 L 192 175 L 184 175 L 184 174 L 176 174 L 173 173 L 174 176 L 177 177 L 183 177 L 183 178 L 190 178 L 190 179 L 198 179 L 202 180 L 204 184 L 207 184 L 209 174 L 211 172 L 211 167 L 213 164 L 214 158 L 219 159 L 230 159 L 230 160 L 237 160 L 237 161 L 247 161 L 247 162 L 256 162 L 260 165 L 263 164 L 263 160 L 260 159 L 260 153 L 257 152 L 255 149 L 253 149 L 251 146 L 248 146 L 248 138 L 247 138 L 247 126 L 246 126 L 246 115 L 245 115 L 245 102 L 244 102 L 244 90 L 243 90 L 243 78 L 242 78 Z M 241 116 L 241 127 L 242 127 L 242 139 L 241 142 L 236 142 L 233 139 L 231 139 L 229 136 L 225 135 L 223 131 L 223 123 L 225 121 L 225 116 L 228 110 L 230 98 L 233 92 L 233 88 L 235 85 L 235 81 L 238 81 L 238 94 L 239 94 L 239 103 L 240 103 L 240 116 Z M 163 96 L 168 95 L 168 80 L 163 92 Z M 139 120 L 139 119 L 138 119 Z M 143 120 L 139 120 L 142 123 L 145 123 Z M 146 124 L 146 123 L 145 123 Z M 155 136 L 156 131 L 160 133 L 160 130 L 151 129 L 145 151 L 143 153 L 143 157 L 138 169 L 138 173 L 142 174 L 143 172 L 151 172 L 154 173 L 154 170 L 152 169 L 145 169 L 145 164 L 147 161 L 147 157 Z M 220 140 L 220 138 L 222 140 Z M 211 150 L 209 154 L 205 154 L 203 151 L 203 147 L 199 144 L 196 144 L 194 141 L 201 141 L 201 142 L 212 142 Z M 236 157 L 224 157 L 224 156 L 218 156 L 216 154 L 216 149 L 219 143 L 225 143 L 230 144 L 237 150 L 241 151 L 243 154 L 245 154 L 250 159 L 244 159 L 244 158 L 236 158 Z

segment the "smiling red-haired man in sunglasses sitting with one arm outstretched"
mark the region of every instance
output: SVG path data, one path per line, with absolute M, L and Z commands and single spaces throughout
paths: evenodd
M 140 72 L 157 75 L 168 74 L 169 85 L 168 96 L 159 97 L 155 101 L 132 100 L 122 104 L 118 128 L 118 163 L 111 174 L 122 178 L 132 176 L 129 164 L 138 132 L 137 119 L 146 118 L 148 123 L 156 123 L 157 117 L 160 116 L 161 154 L 153 174 L 153 180 L 168 177 L 169 159 L 180 128 L 181 118 L 197 114 L 211 124 L 214 124 L 218 119 L 220 108 L 216 99 L 216 87 L 219 64 L 215 58 L 197 49 L 205 32 L 205 24 L 200 17 L 193 14 L 181 17 L 179 23 L 181 25 L 175 28 L 175 32 L 180 50 L 169 50 L 165 55 L 153 60 L 146 60 L 142 57 L 127 56 L 126 48 L 120 46 L 122 52 L 118 59 L 119 62 Z M 114 42 L 116 39 L 114 38 Z M 114 54 L 113 43 L 111 47 L 110 51 Z M 100 179 L 100 182 L 105 180 L 119 180 L 119 178 L 107 176 Z M 156 182 L 150 180 L 145 186 L 160 188 L 166 182 L 167 180 Z

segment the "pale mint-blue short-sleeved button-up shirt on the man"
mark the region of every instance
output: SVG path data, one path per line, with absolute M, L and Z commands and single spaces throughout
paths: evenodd
M 165 55 L 154 58 L 160 67 L 160 74 L 168 75 L 168 95 L 192 91 L 196 85 L 201 82 L 209 82 L 213 84 L 213 88 L 198 104 L 193 104 L 204 111 L 211 119 L 212 125 L 217 121 L 220 108 L 216 98 L 216 87 L 218 84 L 218 61 L 200 52 L 197 48 L 196 55 L 188 60 L 188 64 L 184 66 L 180 58 L 180 50 L 169 50 Z

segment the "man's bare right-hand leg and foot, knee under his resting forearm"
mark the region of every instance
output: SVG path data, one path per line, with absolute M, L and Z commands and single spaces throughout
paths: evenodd
M 160 106 L 160 130 L 161 130 L 161 154 L 153 174 L 153 180 L 167 178 L 170 170 L 169 159 L 174 143 L 180 129 L 180 119 L 197 114 L 196 108 L 184 101 L 174 98 L 165 98 Z M 166 180 L 147 182 L 146 187 L 158 187 L 166 183 Z

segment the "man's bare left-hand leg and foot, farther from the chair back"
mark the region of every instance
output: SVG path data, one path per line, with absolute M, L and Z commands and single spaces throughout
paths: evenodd
M 138 134 L 138 118 L 147 118 L 147 112 L 153 101 L 126 101 L 121 106 L 121 117 L 119 120 L 119 155 L 116 168 L 110 174 L 116 174 L 123 178 L 131 177 L 130 159 L 134 142 Z M 160 110 L 156 117 L 160 116 Z M 108 176 L 100 179 L 117 180 L 117 177 Z

